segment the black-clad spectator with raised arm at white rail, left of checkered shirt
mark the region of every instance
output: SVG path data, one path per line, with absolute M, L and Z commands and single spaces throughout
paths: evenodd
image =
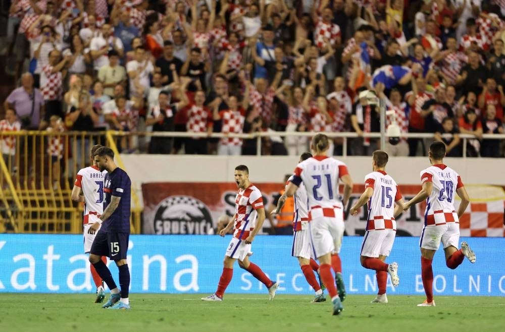
M 150 108 L 150 112 L 145 120 L 146 126 L 153 126 L 153 132 L 174 131 L 174 116 L 188 103 L 184 85 L 176 85 L 181 101 L 170 103 L 170 94 L 167 91 L 160 92 L 158 104 Z M 151 137 L 149 143 L 149 153 L 170 154 L 174 139 L 172 137 Z

